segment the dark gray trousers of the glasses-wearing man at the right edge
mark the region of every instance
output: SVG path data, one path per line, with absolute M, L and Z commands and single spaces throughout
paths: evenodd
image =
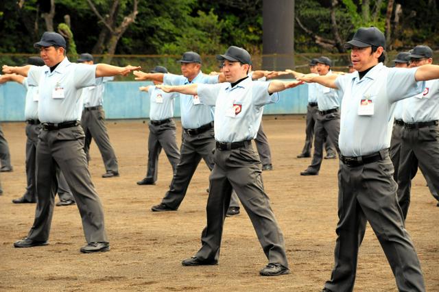
M 431 194 L 439 201 L 439 125 L 419 129 L 404 127 L 399 159 L 398 199 L 405 219 L 410 206 L 412 179 L 418 166 Z

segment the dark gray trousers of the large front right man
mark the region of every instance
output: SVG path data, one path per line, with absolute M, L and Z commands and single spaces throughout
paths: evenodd
M 405 230 L 396 197 L 393 165 L 387 150 L 382 160 L 357 167 L 340 162 L 335 267 L 324 285 L 331 291 L 353 291 L 359 246 L 366 223 L 375 232 L 399 291 L 425 291 L 420 263 Z

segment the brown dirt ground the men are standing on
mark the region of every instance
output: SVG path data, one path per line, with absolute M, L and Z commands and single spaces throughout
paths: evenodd
M 15 205 L 25 191 L 24 123 L 2 123 L 12 173 L 1 173 L 0 291 L 320 291 L 331 276 L 337 223 L 337 160 L 320 175 L 300 176 L 310 158 L 298 159 L 305 138 L 302 116 L 265 117 L 274 171 L 263 180 L 285 236 L 291 273 L 259 276 L 267 260 L 248 216 L 227 218 L 219 265 L 182 267 L 197 252 L 206 223 L 209 169 L 200 164 L 176 212 L 151 212 L 171 180 L 165 154 L 155 186 L 138 186 L 147 162 L 147 123 L 108 121 L 119 178 L 101 178 L 104 166 L 92 144 L 90 171 L 102 199 L 111 250 L 80 254 L 85 244 L 76 206 L 56 207 L 50 245 L 15 249 L 34 220 L 35 204 Z M 178 123 L 178 137 L 180 137 Z M 180 143 L 180 141 L 179 141 Z M 58 200 L 58 199 L 57 199 Z M 439 291 L 439 208 L 422 175 L 414 179 L 406 228 L 420 258 L 427 291 Z M 361 245 L 355 291 L 396 291 L 392 271 L 370 227 Z

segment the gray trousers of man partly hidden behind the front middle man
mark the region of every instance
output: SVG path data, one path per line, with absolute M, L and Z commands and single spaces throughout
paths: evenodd
M 162 199 L 162 204 L 175 210 L 178 209 L 183 199 L 185 199 L 189 182 L 191 182 L 192 175 L 195 173 L 201 158 L 204 159 L 210 170 L 213 169 L 213 150 L 216 145 L 213 127 L 206 132 L 193 136 L 183 131 L 182 136 L 180 161 L 176 167 L 169 191 L 167 191 Z M 211 188 L 210 191 L 212 191 Z M 230 201 L 230 207 L 238 206 L 239 202 L 235 195 L 235 198 Z

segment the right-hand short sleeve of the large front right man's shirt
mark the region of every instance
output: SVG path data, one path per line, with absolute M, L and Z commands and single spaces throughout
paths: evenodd
M 425 82 L 417 82 L 414 75 L 417 68 L 391 68 L 387 77 L 387 95 L 389 101 L 395 102 L 422 93 Z

